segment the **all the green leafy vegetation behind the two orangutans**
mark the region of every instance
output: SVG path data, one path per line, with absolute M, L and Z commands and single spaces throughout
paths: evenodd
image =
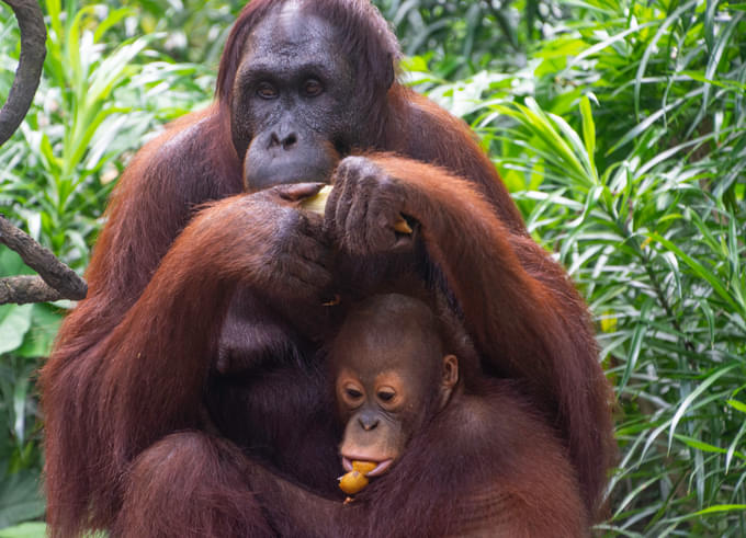
M 133 152 L 212 99 L 242 2 L 43 0 L 0 213 L 82 272 Z M 615 388 L 601 536 L 746 534 L 746 3 L 381 0 L 403 77 L 467 121 L 587 297 Z M 19 32 L 0 3 L 0 99 Z M 0 276 L 27 272 L 0 250 Z M 70 305 L 0 306 L 0 537 L 42 536 L 35 371 Z

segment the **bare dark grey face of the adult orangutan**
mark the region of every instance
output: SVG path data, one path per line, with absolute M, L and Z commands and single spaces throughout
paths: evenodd
M 246 43 L 234 85 L 234 145 L 250 192 L 328 183 L 362 118 L 335 28 L 296 2 L 270 13 Z

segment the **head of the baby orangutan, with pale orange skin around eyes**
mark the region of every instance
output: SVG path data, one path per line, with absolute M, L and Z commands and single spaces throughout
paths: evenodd
M 414 434 L 448 402 L 459 363 L 444 355 L 436 319 L 421 301 L 385 295 L 346 320 L 331 350 L 336 397 L 347 424 L 342 463 L 375 461 L 374 477 L 404 453 Z

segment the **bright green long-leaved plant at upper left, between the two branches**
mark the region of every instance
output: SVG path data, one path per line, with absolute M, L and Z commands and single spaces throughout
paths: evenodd
M 0 204 L 10 205 L 34 238 L 82 270 L 112 180 L 124 165 L 120 156 L 139 147 L 157 123 L 194 105 L 192 82 L 187 96 L 169 92 L 166 99 L 163 89 L 200 69 L 147 50 L 156 35 L 108 42 L 109 32 L 131 14 L 127 9 L 78 9 L 75 1 L 63 9 L 59 0 L 45 8 L 44 77 L 21 133 L 0 149 L 12 164 Z M 10 23 L 10 13 L 5 16 Z M 3 73 L 8 83 L 12 72 Z

